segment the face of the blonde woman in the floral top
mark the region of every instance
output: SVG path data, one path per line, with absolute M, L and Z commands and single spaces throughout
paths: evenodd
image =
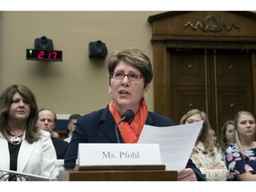
M 253 116 L 241 115 L 237 121 L 237 131 L 241 137 L 251 137 L 255 134 L 255 120 Z

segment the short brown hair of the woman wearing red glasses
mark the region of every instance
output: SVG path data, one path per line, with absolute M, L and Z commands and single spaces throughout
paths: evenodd
M 145 85 L 150 84 L 153 78 L 152 64 L 144 52 L 141 52 L 135 48 L 127 48 L 122 52 L 112 52 L 110 58 L 108 59 L 109 78 L 110 74 L 115 70 L 120 61 L 129 63 L 134 68 L 137 68 L 144 77 Z

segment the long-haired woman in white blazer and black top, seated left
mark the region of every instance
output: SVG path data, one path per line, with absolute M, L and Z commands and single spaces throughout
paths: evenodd
M 49 132 L 36 127 L 36 97 L 28 87 L 12 84 L 0 95 L 0 169 L 50 177 L 56 154 Z M 1 174 L 1 172 L 0 172 Z M 2 172 L 2 175 L 4 172 Z M 16 179 L 14 175 L 1 180 Z

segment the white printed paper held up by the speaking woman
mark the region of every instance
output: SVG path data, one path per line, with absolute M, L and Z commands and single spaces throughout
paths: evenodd
M 139 143 L 158 143 L 162 163 L 166 170 L 181 171 L 188 163 L 188 158 L 196 143 L 204 121 L 193 124 L 156 127 L 145 124 L 140 134 Z

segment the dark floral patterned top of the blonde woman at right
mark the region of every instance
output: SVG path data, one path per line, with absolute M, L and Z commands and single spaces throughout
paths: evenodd
M 228 166 L 228 180 L 238 180 L 236 175 L 244 172 L 256 173 L 256 148 L 247 148 L 244 152 L 249 156 L 243 156 L 235 144 L 230 144 L 225 152 Z

